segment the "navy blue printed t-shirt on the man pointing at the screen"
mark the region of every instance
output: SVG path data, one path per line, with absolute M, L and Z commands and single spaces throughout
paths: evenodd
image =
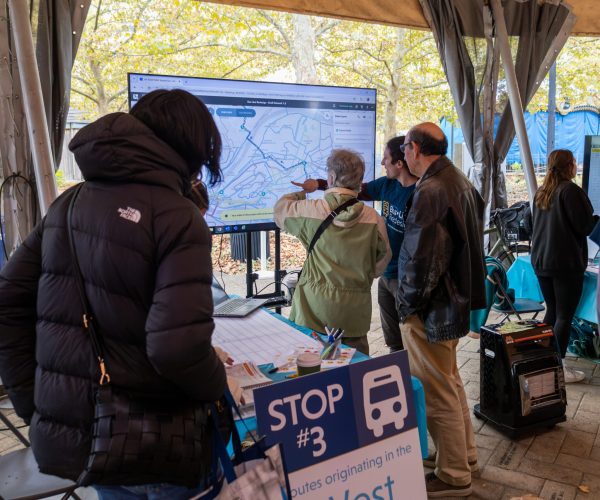
M 367 183 L 363 189 L 369 198 L 383 202 L 381 215 L 385 219 L 392 248 L 392 260 L 385 268 L 383 276 L 388 279 L 396 279 L 398 278 L 398 256 L 402 240 L 404 240 L 404 207 L 415 190 L 415 184 L 403 187 L 396 179 L 380 177 Z

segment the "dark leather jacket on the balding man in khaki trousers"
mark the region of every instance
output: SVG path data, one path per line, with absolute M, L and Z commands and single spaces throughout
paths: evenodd
M 485 307 L 483 199 L 442 156 L 409 204 L 398 259 L 400 320 L 419 314 L 430 342 L 460 338 L 471 310 Z

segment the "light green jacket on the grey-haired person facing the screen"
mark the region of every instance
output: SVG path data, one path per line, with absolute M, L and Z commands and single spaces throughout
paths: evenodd
M 357 196 L 333 188 L 321 200 L 304 192 L 282 196 L 275 205 L 275 223 L 308 249 L 329 213 Z M 356 203 L 340 213 L 323 232 L 304 263 L 292 301 L 290 319 L 324 332 L 342 328 L 346 337 L 361 337 L 371 325 L 371 285 L 391 258 L 385 222 L 371 207 Z

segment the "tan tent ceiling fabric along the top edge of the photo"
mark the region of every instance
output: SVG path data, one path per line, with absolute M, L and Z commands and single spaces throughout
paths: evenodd
M 419 0 L 210 0 L 212 3 L 256 9 L 283 10 L 298 14 L 337 17 L 352 21 L 429 29 Z M 459 3 L 470 3 L 457 0 Z M 598 0 L 570 0 L 577 16 L 572 35 L 600 36 Z

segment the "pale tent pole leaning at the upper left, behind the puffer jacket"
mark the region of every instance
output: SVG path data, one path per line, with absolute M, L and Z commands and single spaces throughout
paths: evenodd
M 23 110 L 27 119 L 40 212 L 43 217 L 58 193 L 54 179 L 52 150 L 44 111 L 42 85 L 29 21 L 29 2 L 27 0 L 8 0 L 8 7 L 19 65 Z

